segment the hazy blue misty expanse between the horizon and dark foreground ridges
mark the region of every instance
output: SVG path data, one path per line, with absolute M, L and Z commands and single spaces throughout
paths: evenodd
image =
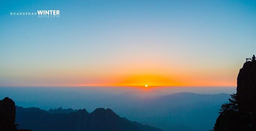
M 17 106 L 21 107 L 39 107 L 47 110 L 53 108 L 48 111 L 50 114 L 76 112 L 73 109 L 86 108 L 88 112 L 93 112 L 98 107 L 110 108 L 116 114 L 125 116 L 131 121 L 158 127 L 164 131 L 211 130 L 219 115 L 220 106 L 228 102 L 230 97 L 226 93 L 181 92 L 163 95 L 158 92 L 158 89 L 151 91 L 150 88 L 143 90 L 144 92 L 131 88 L 131 91 L 124 93 L 112 93 L 115 90 L 121 90 L 121 88 L 100 90 L 85 87 L 79 89 L 10 87 L 0 88 L 0 96 L 12 96 L 15 98 Z M 223 92 L 225 90 L 227 89 L 223 89 Z M 154 92 L 157 93 L 154 94 Z M 60 110 L 58 107 L 66 108 L 66 111 Z

